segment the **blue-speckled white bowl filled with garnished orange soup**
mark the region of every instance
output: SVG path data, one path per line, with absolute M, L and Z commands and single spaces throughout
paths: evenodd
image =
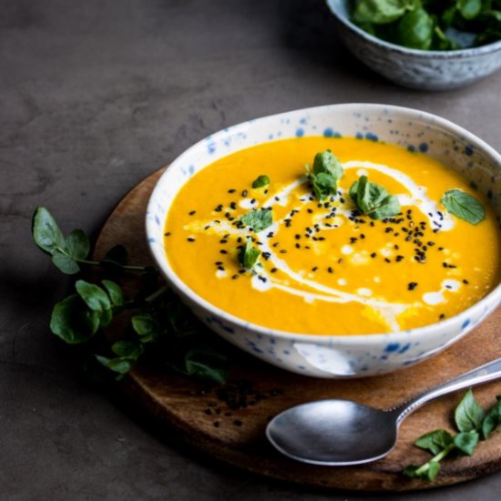
M 378 104 L 226 128 L 162 174 L 146 215 L 169 286 L 221 337 L 294 373 L 388 373 L 501 302 L 501 156 Z

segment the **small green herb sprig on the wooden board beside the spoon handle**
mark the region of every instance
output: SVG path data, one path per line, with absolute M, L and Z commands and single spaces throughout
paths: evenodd
M 441 461 L 450 454 L 473 455 L 479 440 L 486 440 L 501 424 L 501 395 L 486 413 L 478 404 L 473 392 L 468 390 L 455 408 L 455 426 L 458 433 L 435 430 L 419 437 L 414 445 L 430 451 L 434 456 L 424 465 L 409 465 L 404 475 L 411 478 L 434 480 L 440 472 Z

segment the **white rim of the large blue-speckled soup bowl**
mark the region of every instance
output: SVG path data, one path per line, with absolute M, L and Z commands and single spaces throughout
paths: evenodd
M 153 257 L 154 261 L 158 265 L 159 271 L 162 273 L 166 281 L 168 282 L 169 287 L 171 287 L 178 295 L 188 299 L 189 302 L 195 303 L 198 307 L 201 307 L 203 310 L 211 312 L 211 314 L 220 317 L 226 322 L 230 322 L 234 325 L 238 325 L 244 331 L 251 331 L 265 336 L 272 336 L 281 340 L 288 341 L 297 341 L 297 342 L 308 342 L 308 343 L 326 343 L 329 342 L 332 345 L 353 345 L 356 343 L 359 346 L 371 345 L 377 343 L 397 343 L 397 342 L 409 342 L 414 338 L 418 338 L 420 341 L 425 341 L 429 337 L 436 337 L 438 332 L 437 330 L 447 330 L 447 328 L 455 327 L 456 324 L 462 325 L 466 321 L 466 317 L 480 317 L 483 320 L 486 316 L 487 312 L 492 312 L 501 302 L 501 281 L 496 285 L 496 287 L 490 291 L 486 296 L 484 296 L 480 301 L 475 302 L 467 309 L 462 312 L 458 312 L 454 316 L 445 319 L 444 321 L 430 323 L 421 327 L 416 327 L 414 329 L 407 329 L 404 331 L 396 331 L 396 332 L 374 332 L 369 334 L 312 334 L 308 332 L 287 332 L 281 331 L 279 329 L 273 329 L 271 327 L 266 327 L 260 325 L 258 323 L 246 321 L 237 317 L 229 312 L 225 312 L 220 309 L 218 306 L 215 306 L 211 302 L 199 296 L 199 294 L 193 291 L 189 286 L 182 281 L 177 273 L 172 270 L 169 265 L 169 259 L 167 257 L 167 253 L 165 251 L 165 247 L 161 245 L 161 252 L 158 251 L 158 246 L 154 246 L 152 244 L 152 240 L 150 239 L 153 234 L 158 232 L 158 224 L 156 224 L 153 220 L 148 217 L 148 213 L 152 211 L 153 207 L 157 205 L 155 199 L 158 197 L 158 193 L 162 189 L 162 184 L 165 182 L 170 175 L 171 169 L 175 169 L 177 165 L 181 164 L 185 161 L 185 158 L 189 158 L 189 155 L 193 152 L 199 150 L 200 147 L 206 144 L 207 138 L 211 138 L 212 140 L 217 140 L 218 138 L 224 138 L 228 135 L 238 134 L 240 131 L 244 131 L 245 133 L 249 133 L 251 128 L 259 127 L 265 121 L 273 121 L 277 118 L 283 118 L 284 116 L 291 116 L 293 114 L 304 114 L 308 113 L 311 115 L 321 114 L 322 112 L 328 111 L 340 111 L 343 110 L 345 112 L 361 112 L 363 109 L 366 111 L 379 111 L 384 112 L 384 110 L 392 111 L 395 113 L 403 113 L 407 114 L 408 118 L 413 118 L 414 120 L 419 118 L 425 120 L 428 124 L 434 124 L 435 126 L 439 126 L 442 128 L 446 128 L 448 131 L 454 133 L 457 136 L 460 136 L 464 139 L 467 139 L 470 144 L 474 145 L 475 148 L 482 149 L 484 153 L 487 154 L 490 158 L 493 158 L 495 161 L 499 163 L 501 167 L 501 154 L 496 151 L 496 149 L 490 147 L 483 139 L 476 137 L 473 133 L 469 132 L 465 128 L 456 125 L 454 122 L 441 118 L 433 113 L 429 113 L 426 111 L 421 111 L 419 109 L 411 108 L 411 107 L 400 107 L 394 105 L 383 105 L 379 103 L 341 103 L 341 104 L 333 104 L 333 105 L 322 105 L 318 107 L 306 107 L 299 108 L 290 111 L 285 111 L 281 113 L 276 113 L 272 115 L 267 115 L 261 118 L 253 118 L 244 122 L 240 122 L 234 126 L 230 126 L 228 128 L 220 129 L 219 131 L 210 134 L 210 136 L 206 138 L 202 138 L 197 141 L 195 144 L 185 149 L 177 158 L 175 158 L 164 172 L 162 172 L 160 178 L 157 180 L 155 187 L 153 188 L 149 199 L 146 210 L 146 239 L 148 242 L 148 249 L 150 251 L 150 255 Z M 311 135 L 310 135 L 311 136 Z M 258 143 L 259 144 L 259 143 Z M 249 148 L 243 147 L 243 148 Z M 242 148 L 242 149 L 243 149 Z M 238 150 L 237 150 L 238 151 Z M 206 169 L 213 163 L 212 160 L 208 162 L 206 165 L 202 167 L 202 169 Z M 187 181 L 185 181 L 187 182 Z M 184 185 L 185 183 L 183 183 Z M 175 198 L 175 197 L 174 197 Z M 173 199 L 174 199 L 173 198 Z M 169 208 L 166 211 L 169 213 Z M 166 214 L 167 217 L 167 214 Z M 161 221 L 160 227 L 163 229 L 165 224 L 165 219 Z M 163 234 L 163 230 L 161 231 Z M 487 307 L 488 302 L 490 302 L 491 298 L 494 298 L 494 307 Z M 484 310 L 484 312 L 480 312 L 480 310 Z M 469 319 L 467 319 L 469 320 Z M 471 324 L 471 322 L 469 322 Z M 476 326 L 478 322 L 473 322 L 471 326 L 467 326 L 469 328 L 461 328 L 459 332 L 457 332 L 454 336 L 454 339 L 457 336 L 462 336 L 466 332 L 469 332 L 470 329 Z M 333 343 L 335 342 L 335 343 Z

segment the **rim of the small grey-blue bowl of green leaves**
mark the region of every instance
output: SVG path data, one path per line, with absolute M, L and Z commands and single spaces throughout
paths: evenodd
M 325 0 L 326 4 L 330 8 L 332 15 L 344 26 L 351 29 L 358 36 L 361 36 L 368 42 L 373 43 L 376 46 L 382 46 L 385 49 L 393 50 L 394 52 L 398 52 L 403 55 L 412 55 L 416 57 L 421 57 L 423 59 L 429 59 L 431 57 L 435 57 L 437 59 L 451 59 L 451 58 L 466 58 L 471 56 L 483 56 L 485 54 L 494 53 L 497 50 L 501 50 L 501 39 L 496 40 L 496 42 L 491 42 L 489 44 L 483 46 L 475 46 L 475 47 L 467 47 L 456 50 L 423 50 L 410 48 L 405 46 L 398 46 L 396 44 L 392 44 L 390 42 L 386 42 L 383 38 L 378 38 L 377 36 L 373 36 L 370 33 L 364 31 L 361 27 L 356 26 L 352 21 L 341 15 L 338 7 L 339 4 L 343 0 Z

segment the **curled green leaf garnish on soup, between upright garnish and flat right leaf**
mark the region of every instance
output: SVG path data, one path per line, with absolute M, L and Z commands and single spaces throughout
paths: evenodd
M 400 212 L 400 203 L 386 189 L 361 176 L 350 188 L 350 198 L 363 214 L 373 220 L 392 218 Z

